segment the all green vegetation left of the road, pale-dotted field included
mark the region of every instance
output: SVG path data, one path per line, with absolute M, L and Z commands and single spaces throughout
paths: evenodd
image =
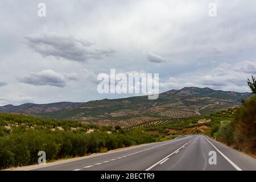
M 0 169 L 36 164 L 39 151 L 51 161 L 167 139 L 171 138 L 143 129 L 0 114 Z

